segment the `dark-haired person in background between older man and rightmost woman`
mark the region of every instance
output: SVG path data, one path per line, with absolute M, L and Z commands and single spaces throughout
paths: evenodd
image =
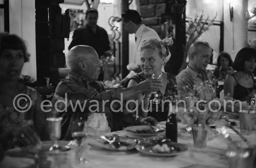
M 213 75 L 218 80 L 224 80 L 226 75 L 234 72 L 232 69 L 233 61 L 229 53 L 222 51 L 217 59 L 217 66 Z

